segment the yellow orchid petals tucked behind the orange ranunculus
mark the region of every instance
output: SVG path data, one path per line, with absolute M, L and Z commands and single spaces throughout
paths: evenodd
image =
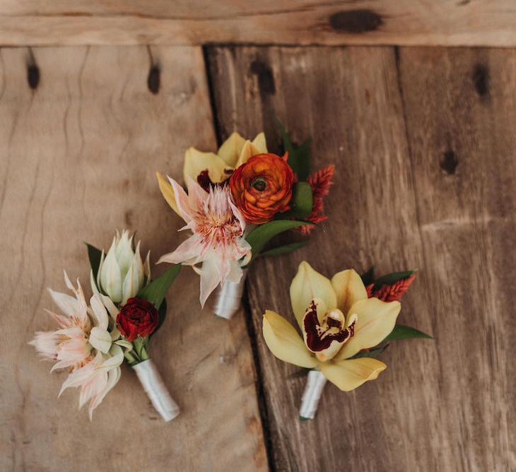
M 208 170 L 211 182 L 218 183 L 227 179 L 233 170 L 240 165 L 247 163 L 247 160 L 257 154 L 267 152 L 264 133 L 259 133 L 250 141 L 242 138 L 236 131 L 226 139 L 217 153 L 204 153 L 196 148 L 188 148 L 184 153 L 183 179 L 188 182 L 190 177 L 197 182 L 197 177 L 204 170 Z M 178 215 L 177 203 L 175 202 L 174 192 L 168 179 L 156 172 L 161 193 Z

